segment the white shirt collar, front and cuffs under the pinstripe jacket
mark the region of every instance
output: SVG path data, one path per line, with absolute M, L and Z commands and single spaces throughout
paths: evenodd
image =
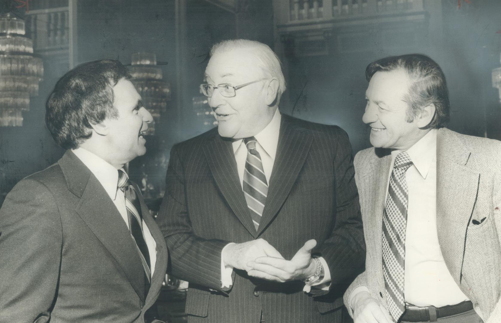
M 279 143 L 280 134 L 280 122 L 282 120 L 282 115 L 279 109 L 275 112 L 272 121 L 263 129 L 260 133 L 254 136 L 256 138 L 256 150 L 261 156 L 261 161 L 263 162 L 263 169 L 265 171 L 266 180 L 268 186 L 270 186 L 270 178 L 272 176 L 273 164 L 275 163 L 275 156 L 277 155 L 277 146 Z M 243 174 L 245 172 L 245 160 L 247 159 L 247 147 L 243 143 L 243 139 L 238 139 L 233 141 L 233 153 L 236 160 L 236 168 L 238 170 L 238 177 L 240 179 L 240 185 L 243 191 Z M 250 214 L 249 214 L 250 216 Z M 306 241 L 305 241 L 306 242 Z M 224 248 L 223 248 L 224 250 Z M 322 265 L 324 267 L 324 278 L 314 284 L 317 288 L 322 288 L 328 290 L 330 287 L 331 273 L 327 262 L 323 257 L 319 257 Z M 231 266 L 224 266 L 224 259 L 221 252 L 221 284 L 222 287 L 229 287 L 232 284 L 231 272 L 233 268 Z M 310 286 L 305 286 L 305 291 L 309 292 Z

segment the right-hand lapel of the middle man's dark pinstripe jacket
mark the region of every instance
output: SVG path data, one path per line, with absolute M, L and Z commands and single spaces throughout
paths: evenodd
M 289 196 L 313 141 L 308 130 L 298 129 L 289 118 L 282 115 L 277 155 L 258 234 L 266 229 Z

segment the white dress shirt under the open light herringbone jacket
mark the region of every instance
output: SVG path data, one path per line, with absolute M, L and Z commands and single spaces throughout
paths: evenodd
M 413 163 L 405 173 L 408 188 L 407 228 L 405 230 L 405 302 L 415 306 L 441 307 L 468 300 L 452 278 L 440 250 L 436 225 L 436 139 L 430 130 L 407 150 Z M 399 150 L 391 152 L 393 171 Z M 351 298 L 367 287 L 356 288 Z M 351 300 L 350 300 L 351 302 Z

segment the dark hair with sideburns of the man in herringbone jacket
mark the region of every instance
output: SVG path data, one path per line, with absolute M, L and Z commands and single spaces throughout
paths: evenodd
M 411 81 L 409 92 L 404 97 L 408 104 L 406 121 L 412 122 L 424 107 L 434 104 L 435 115 L 425 128 L 445 127 L 450 119 L 450 103 L 445 75 L 440 66 L 421 54 L 393 56 L 369 64 L 365 69 L 365 78 L 369 82 L 376 72 L 397 69 L 403 69 Z

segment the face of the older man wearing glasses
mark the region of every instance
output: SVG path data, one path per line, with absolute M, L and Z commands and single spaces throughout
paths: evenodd
M 205 81 L 213 86 L 230 84 L 237 86 L 264 79 L 257 67 L 252 50 L 234 49 L 214 54 L 205 69 Z M 247 138 L 258 134 L 272 120 L 275 113 L 266 103 L 267 80 L 256 82 L 236 90 L 234 97 L 223 97 L 214 89 L 208 103 L 219 123 L 221 137 Z

